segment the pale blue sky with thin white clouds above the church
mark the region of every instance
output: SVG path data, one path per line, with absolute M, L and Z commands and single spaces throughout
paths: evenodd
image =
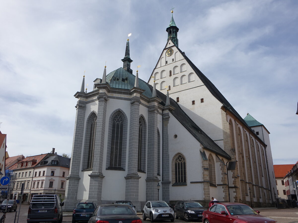
M 146 82 L 173 17 L 179 48 L 241 117 L 270 132 L 274 164 L 297 153 L 298 1 L 0 0 L 0 131 L 9 156 L 71 156 L 73 96 L 130 56 Z

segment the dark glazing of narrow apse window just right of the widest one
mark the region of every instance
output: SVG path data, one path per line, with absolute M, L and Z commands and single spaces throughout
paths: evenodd
M 145 172 L 145 154 L 146 154 L 146 126 L 145 119 L 139 118 L 139 147 L 138 147 L 138 171 Z

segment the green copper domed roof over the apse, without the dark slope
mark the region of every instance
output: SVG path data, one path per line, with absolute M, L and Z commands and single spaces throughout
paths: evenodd
M 134 87 L 134 81 L 136 76 L 127 72 L 123 67 L 118 68 L 117 70 L 112 71 L 106 77 L 107 83 L 114 88 L 121 89 L 131 89 Z M 142 94 L 148 98 L 152 95 L 152 90 L 148 87 L 148 84 L 139 78 L 139 88 L 145 90 Z

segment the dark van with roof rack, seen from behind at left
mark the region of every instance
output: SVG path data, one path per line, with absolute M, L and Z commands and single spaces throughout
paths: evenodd
M 27 223 L 63 221 L 60 197 L 57 194 L 34 194 L 28 209 Z

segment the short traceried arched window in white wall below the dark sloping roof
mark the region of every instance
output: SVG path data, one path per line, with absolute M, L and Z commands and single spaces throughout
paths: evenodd
M 174 184 L 186 185 L 186 162 L 185 157 L 181 153 L 174 157 L 172 171 L 174 172 L 173 177 L 175 177 L 173 179 Z

